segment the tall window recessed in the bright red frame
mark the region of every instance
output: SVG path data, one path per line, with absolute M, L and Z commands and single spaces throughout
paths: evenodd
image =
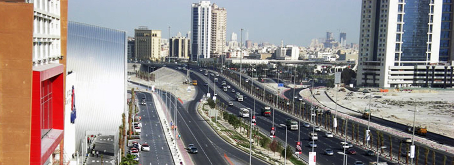
M 52 82 L 41 82 L 41 136 L 52 129 Z

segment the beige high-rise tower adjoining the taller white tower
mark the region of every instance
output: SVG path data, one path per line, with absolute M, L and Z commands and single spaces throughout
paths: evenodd
M 227 9 L 211 6 L 211 54 L 218 56 L 226 48 Z

